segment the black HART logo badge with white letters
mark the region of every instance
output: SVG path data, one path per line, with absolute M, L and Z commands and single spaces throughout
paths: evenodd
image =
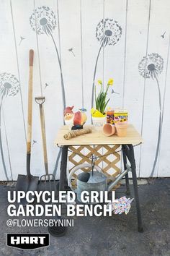
M 19 249 L 37 249 L 46 247 L 50 244 L 48 233 L 43 234 L 7 234 L 6 244 L 10 247 L 17 247 Z

